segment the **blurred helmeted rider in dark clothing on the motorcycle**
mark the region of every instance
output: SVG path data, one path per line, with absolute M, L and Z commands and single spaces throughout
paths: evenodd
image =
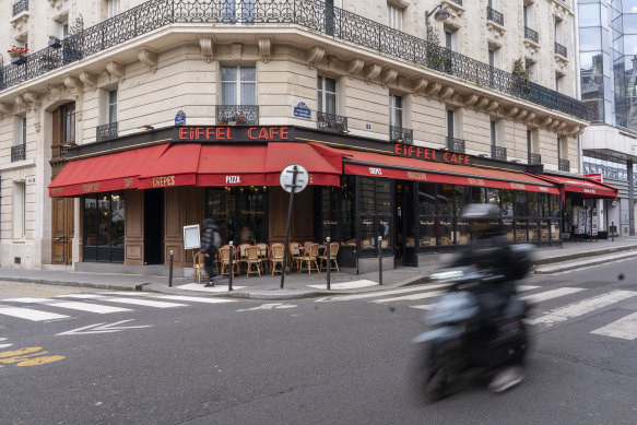
M 493 346 L 498 337 L 503 310 L 516 295 L 515 280 L 526 274 L 528 264 L 521 264 L 510 249 L 499 225 L 499 208 L 488 203 L 469 204 L 462 217 L 470 223 L 471 244 L 453 261 L 452 267 L 473 265 L 485 272 L 487 279 L 470 288 L 480 305 L 480 332 L 470 341 L 470 351 L 494 373 L 488 388 L 505 391 L 523 379 L 518 365 L 507 364 L 507 347 Z M 523 270 L 522 270 L 523 269 Z

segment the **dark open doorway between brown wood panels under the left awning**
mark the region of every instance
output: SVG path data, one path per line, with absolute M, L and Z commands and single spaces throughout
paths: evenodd
M 164 263 L 164 189 L 144 190 L 144 265 Z

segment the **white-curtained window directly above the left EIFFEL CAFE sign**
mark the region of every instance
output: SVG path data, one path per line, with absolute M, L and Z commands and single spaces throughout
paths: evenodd
M 221 68 L 222 105 L 257 105 L 257 68 Z

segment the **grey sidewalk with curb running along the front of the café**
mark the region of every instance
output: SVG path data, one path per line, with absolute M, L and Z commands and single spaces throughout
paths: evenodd
M 535 272 L 556 273 L 629 257 L 637 257 L 637 237 L 615 238 L 615 241 L 566 243 L 563 248 L 538 248 L 535 251 Z M 393 270 L 386 270 L 382 273 L 382 286 L 378 285 L 377 272 L 353 275 L 332 271 L 331 291 L 327 290 L 327 275 L 325 272 L 312 272 L 311 274 L 288 273 L 285 276 L 284 290 L 280 288 L 280 274 L 274 276 L 267 274 L 261 278 L 236 276 L 233 280 L 232 292 L 227 291 L 227 278 L 219 280 L 213 288 L 204 288 L 202 284 L 193 283 L 192 278 L 175 278 L 173 279 L 173 287 L 168 287 L 168 278 L 165 276 L 0 268 L 0 281 L 200 296 L 292 299 L 384 291 L 423 283 L 427 281 L 433 271 L 445 265 L 443 261 L 435 261 L 435 257 L 430 257 L 430 260 L 434 261 L 428 261 L 428 264 L 416 268 L 400 267 Z

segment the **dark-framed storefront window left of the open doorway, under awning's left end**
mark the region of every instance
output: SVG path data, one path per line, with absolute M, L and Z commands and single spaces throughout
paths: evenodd
M 123 196 L 119 192 L 87 194 L 83 206 L 83 260 L 123 262 Z

